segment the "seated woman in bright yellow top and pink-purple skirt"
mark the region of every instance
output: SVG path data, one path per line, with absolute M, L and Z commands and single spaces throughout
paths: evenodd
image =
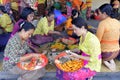
M 82 18 L 75 18 L 72 24 L 74 33 L 80 36 L 79 50 L 81 51 L 81 55 L 75 53 L 72 53 L 72 55 L 83 59 L 87 64 L 85 63 L 86 65 L 83 68 L 75 72 L 57 70 L 57 77 L 60 80 L 86 80 L 92 78 L 96 72 L 100 72 L 100 42 L 94 34 L 89 32 L 87 23 Z

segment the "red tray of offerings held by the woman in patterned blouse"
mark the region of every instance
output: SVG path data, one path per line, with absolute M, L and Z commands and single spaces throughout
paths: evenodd
M 17 66 L 23 70 L 36 70 L 46 66 L 48 59 L 45 55 L 40 54 L 39 58 L 32 58 L 29 61 L 19 62 Z

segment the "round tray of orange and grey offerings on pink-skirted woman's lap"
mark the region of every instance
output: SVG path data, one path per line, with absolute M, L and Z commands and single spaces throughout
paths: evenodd
M 84 66 L 84 61 L 82 59 L 72 59 L 67 55 L 66 52 L 62 52 L 55 59 L 55 64 L 60 70 L 74 72 Z

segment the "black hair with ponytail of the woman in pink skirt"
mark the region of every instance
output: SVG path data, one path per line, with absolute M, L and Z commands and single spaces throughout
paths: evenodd
M 84 26 L 85 29 L 87 29 L 88 31 L 94 33 L 94 31 L 92 29 L 88 28 L 87 22 L 81 17 L 77 17 L 77 18 L 73 19 L 72 24 L 74 24 L 78 28 L 82 28 L 82 26 Z

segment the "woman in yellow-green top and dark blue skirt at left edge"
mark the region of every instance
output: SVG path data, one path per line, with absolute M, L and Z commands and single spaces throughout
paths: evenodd
M 0 29 L 2 29 L 2 34 L 0 34 L 0 51 L 3 51 L 6 46 L 8 39 L 10 38 L 13 23 L 10 16 L 7 14 L 4 6 L 0 6 Z M 2 49 L 3 48 L 3 49 Z M 1 50 L 2 49 L 2 50 Z

